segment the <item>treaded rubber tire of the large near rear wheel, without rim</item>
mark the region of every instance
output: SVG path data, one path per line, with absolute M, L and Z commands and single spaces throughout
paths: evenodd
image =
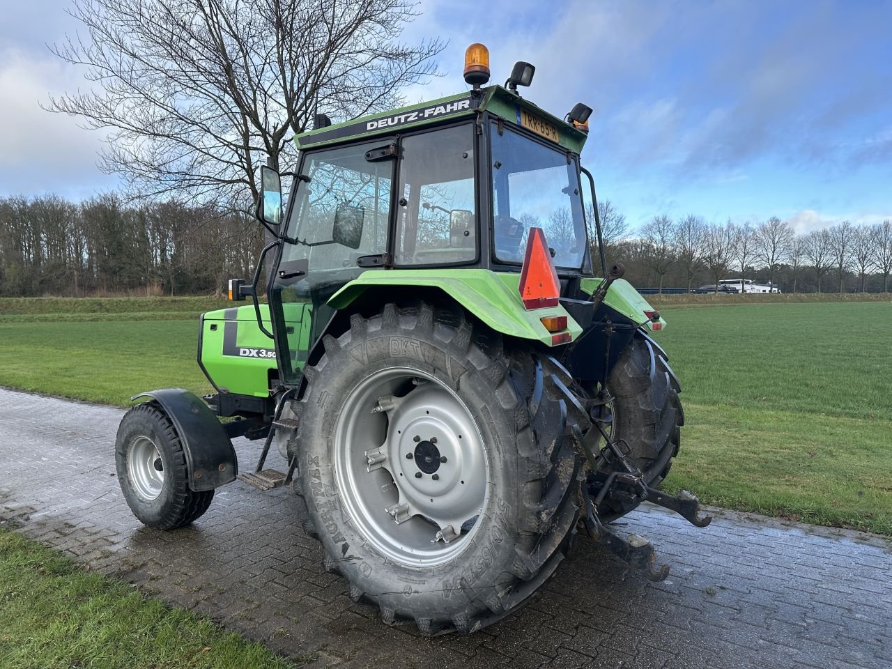
M 504 345 L 462 310 L 426 304 L 354 315 L 349 331 L 324 344 L 294 409 L 299 485 L 326 570 L 347 579 L 351 599 L 376 604 L 384 623 L 411 620 L 425 635 L 474 632 L 516 609 L 566 556 L 578 517 L 580 459 L 567 436 L 567 398 L 533 349 Z M 487 444 L 490 500 L 477 521 L 484 525 L 435 569 L 396 564 L 364 541 L 333 471 L 333 425 L 344 399 L 360 379 L 393 366 L 447 384 L 475 412 Z

